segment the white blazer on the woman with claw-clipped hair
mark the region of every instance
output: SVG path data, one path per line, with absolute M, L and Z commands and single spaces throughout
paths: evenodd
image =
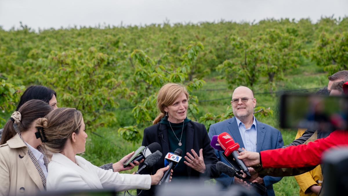
M 61 153 L 53 153 L 48 164 L 47 190 L 115 188 L 116 191 L 150 189 L 150 175 L 120 174 L 101 169 L 75 156 L 76 163 Z

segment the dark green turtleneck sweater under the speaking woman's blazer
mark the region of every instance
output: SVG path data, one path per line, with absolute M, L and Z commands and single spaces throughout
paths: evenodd
M 173 177 L 185 177 L 187 178 L 187 170 L 186 165 L 184 164 L 184 156 L 186 155 L 186 125 L 191 120 L 186 117 L 184 122 L 181 123 L 170 123 L 167 120 L 167 116 L 165 116 L 163 119 L 161 119 L 160 123 L 167 126 L 168 131 L 168 142 L 169 142 L 169 152 L 175 152 L 176 149 L 180 148 L 182 150 L 181 159 L 179 163 L 176 165 L 176 167 L 173 169 Z M 171 128 L 172 126 L 172 128 Z M 174 135 L 174 133 L 176 135 Z M 182 137 L 181 137 L 182 132 Z M 181 146 L 179 146 L 179 140 L 181 137 Z M 179 139 L 179 140 L 178 140 Z

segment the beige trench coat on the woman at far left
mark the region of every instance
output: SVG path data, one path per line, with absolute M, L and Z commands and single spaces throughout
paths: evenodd
M 0 145 L 0 196 L 36 195 L 45 190 L 19 135 Z

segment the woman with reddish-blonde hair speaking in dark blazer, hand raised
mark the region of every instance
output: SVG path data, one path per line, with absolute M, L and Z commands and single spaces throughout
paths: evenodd
M 173 179 L 192 180 L 197 178 L 215 178 L 217 158 L 203 124 L 187 118 L 189 94 L 185 87 L 178 83 L 168 83 L 159 90 L 157 107 L 160 114 L 151 127 L 144 129 L 143 146 L 157 142 L 162 147 L 163 156 L 152 168 L 142 173 L 154 174 L 164 167 L 164 156 L 182 150 L 182 159 L 173 169 Z M 143 164 L 140 164 L 141 167 Z M 141 195 L 155 195 L 156 186 L 142 191 Z M 138 190 L 138 193 L 140 190 Z

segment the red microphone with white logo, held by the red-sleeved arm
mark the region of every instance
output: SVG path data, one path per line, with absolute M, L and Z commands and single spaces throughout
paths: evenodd
M 239 144 L 235 143 L 235 141 L 233 141 L 232 137 L 226 132 L 217 136 L 217 141 L 219 142 L 221 148 L 225 150 L 225 152 L 222 155 L 226 158 L 226 160 L 228 162 L 232 162 L 233 159 L 228 160 L 231 158 L 231 157 L 229 157 L 230 154 L 232 154 L 232 157 L 235 159 L 238 166 L 247 175 L 247 179 L 250 179 L 251 175 L 250 175 L 249 169 L 246 167 L 246 165 L 244 164 L 244 162 L 242 160 L 237 158 L 238 157 L 237 150 L 239 149 Z

